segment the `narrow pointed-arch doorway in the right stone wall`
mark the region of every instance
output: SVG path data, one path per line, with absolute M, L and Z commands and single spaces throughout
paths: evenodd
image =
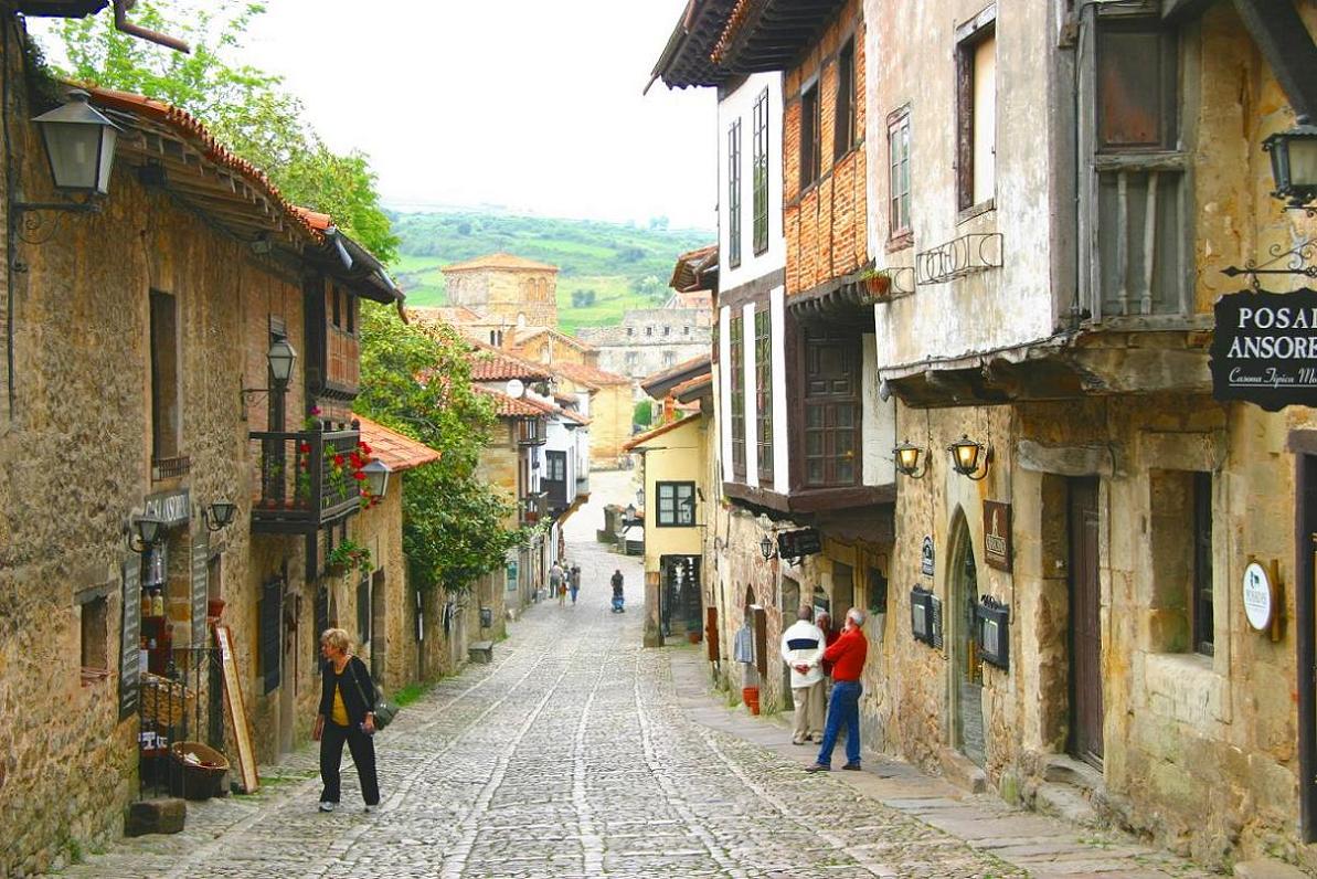
M 975 643 L 975 606 L 979 604 L 979 568 L 969 523 L 956 510 L 951 530 L 947 582 L 951 633 L 951 718 L 956 750 L 976 766 L 986 759 L 984 743 L 982 663 Z

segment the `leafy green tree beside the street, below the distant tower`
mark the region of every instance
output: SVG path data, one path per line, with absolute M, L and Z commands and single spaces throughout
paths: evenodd
M 386 307 L 362 310 L 361 387 L 354 409 L 441 452 L 403 478 L 403 551 L 414 582 L 464 592 L 503 568 L 527 539 L 503 527 L 515 507 L 478 480 L 497 423 L 471 386 L 470 347 L 449 327 L 412 327 Z

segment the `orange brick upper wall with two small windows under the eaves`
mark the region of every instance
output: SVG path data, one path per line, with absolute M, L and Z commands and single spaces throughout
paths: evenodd
M 838 51 L 855 37 L 853 148 L 834 161 Z M 868 260 L 864 157 L 864 21 L 859 0 L 843 7 L 803 61 L 784 80 L 782 137 L 786 293 L 810 290 L 859 270 Z M 801 94 L 818 76 L 819 179 L 801 188 Z

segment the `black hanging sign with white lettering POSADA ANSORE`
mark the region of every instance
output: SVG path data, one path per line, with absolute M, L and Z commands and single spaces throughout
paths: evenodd
M 1317 291 L 1221 297 L 1212 339 L 1212 395 L 1276 412 L 1317 406 Z

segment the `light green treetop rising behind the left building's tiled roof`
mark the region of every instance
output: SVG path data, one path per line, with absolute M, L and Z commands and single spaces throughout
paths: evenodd
M 263 13 L 263 3 L 249 0 L 171 3 L 167 13 L 159 0 L 141 0 L 134 20 L 182 37 L 191 54 L 120 33 L 109 16 L 66 18 L 54 29 L 68 59 L 59 72 L 186 109 L 288 200 L 329 213 L 382 261 L 394 261 L 399 241 L 379 206 L 369 159 L 325 146 L 279 76 L 230 61 Z

